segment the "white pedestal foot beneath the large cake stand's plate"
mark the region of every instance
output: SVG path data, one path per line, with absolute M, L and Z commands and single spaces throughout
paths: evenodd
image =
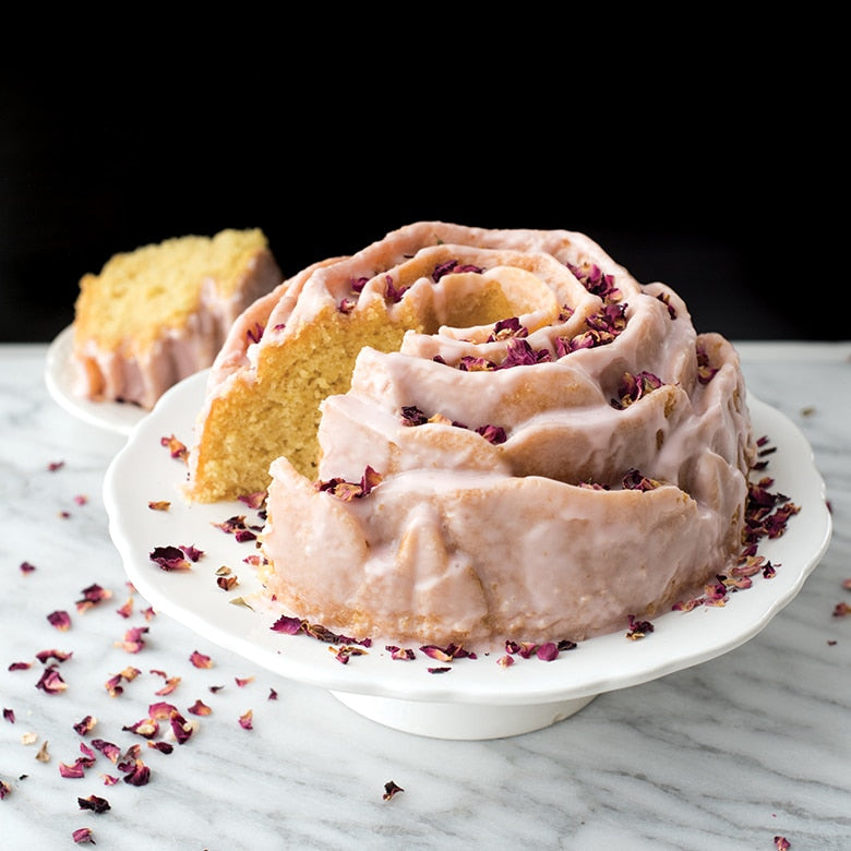
M 332 691 L 340 703 L 364 718 L 432 739 L 506 739 L 530 733 L 563 721 L 587 706 L 597 695 L 528 706 L 481 705 L 404 700 Z

